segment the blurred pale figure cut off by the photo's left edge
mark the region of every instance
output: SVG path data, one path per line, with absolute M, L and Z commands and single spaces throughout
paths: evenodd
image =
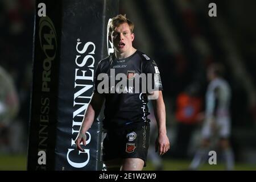
M 11 75 L 0 66 L 0 153 L 19 152 L 22 126 L 15 122 L 19 98 Z

